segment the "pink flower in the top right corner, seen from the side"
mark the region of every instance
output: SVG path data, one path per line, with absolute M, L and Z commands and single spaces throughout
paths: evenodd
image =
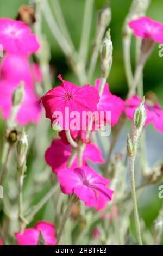
M 159 44 L 163 43 L 163 24 L 160 22 L 148 17 L 140 17 L 139 19 L 130 21 L 129 26 L 133 29 L 135 36 L 151 38 Z

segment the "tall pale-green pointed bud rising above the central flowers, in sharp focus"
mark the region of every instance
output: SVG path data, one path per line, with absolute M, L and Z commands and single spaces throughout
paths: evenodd
M 112 41 L 110 29 L 105 34 L 105 38 L 101 46 L 101 77 L 108 78 L 112 65 Z

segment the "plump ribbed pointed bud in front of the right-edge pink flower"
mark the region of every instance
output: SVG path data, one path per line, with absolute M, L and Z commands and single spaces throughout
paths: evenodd
M 145 97 L 143 97 L 142 102 L 134 112 L 133 121 L 134 121 L 134 126 L 137 129 L 139 129 L 140 127 L 143 127 L 146 122 L 147 114 L 146 114 L 146 109 L 144 104 L 145 104 Z

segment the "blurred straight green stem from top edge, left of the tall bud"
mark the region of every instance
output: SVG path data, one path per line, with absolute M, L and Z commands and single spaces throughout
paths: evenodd
M 79 49 L 79 56 L 80 58 L 82 58 L 84 63 L 86 63 L 87 52 L 89 48 L 89 37 L 90 37 L 90 29 L 91 29 L 91 22 L 92 22 L 93 2 L 94 0 L 86 0 L 85 8 L 84 8 L 82 39 L 80 41 L 80 49 Z

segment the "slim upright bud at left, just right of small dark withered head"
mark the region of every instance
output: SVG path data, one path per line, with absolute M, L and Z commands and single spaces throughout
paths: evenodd
M 22 167 L 24 162 L 26 162 L 26 154 L 28 149 L 28 141 L 25 130 L 22 131 L 22 135 L 17 142 L 17 162 L 18 167 Z

